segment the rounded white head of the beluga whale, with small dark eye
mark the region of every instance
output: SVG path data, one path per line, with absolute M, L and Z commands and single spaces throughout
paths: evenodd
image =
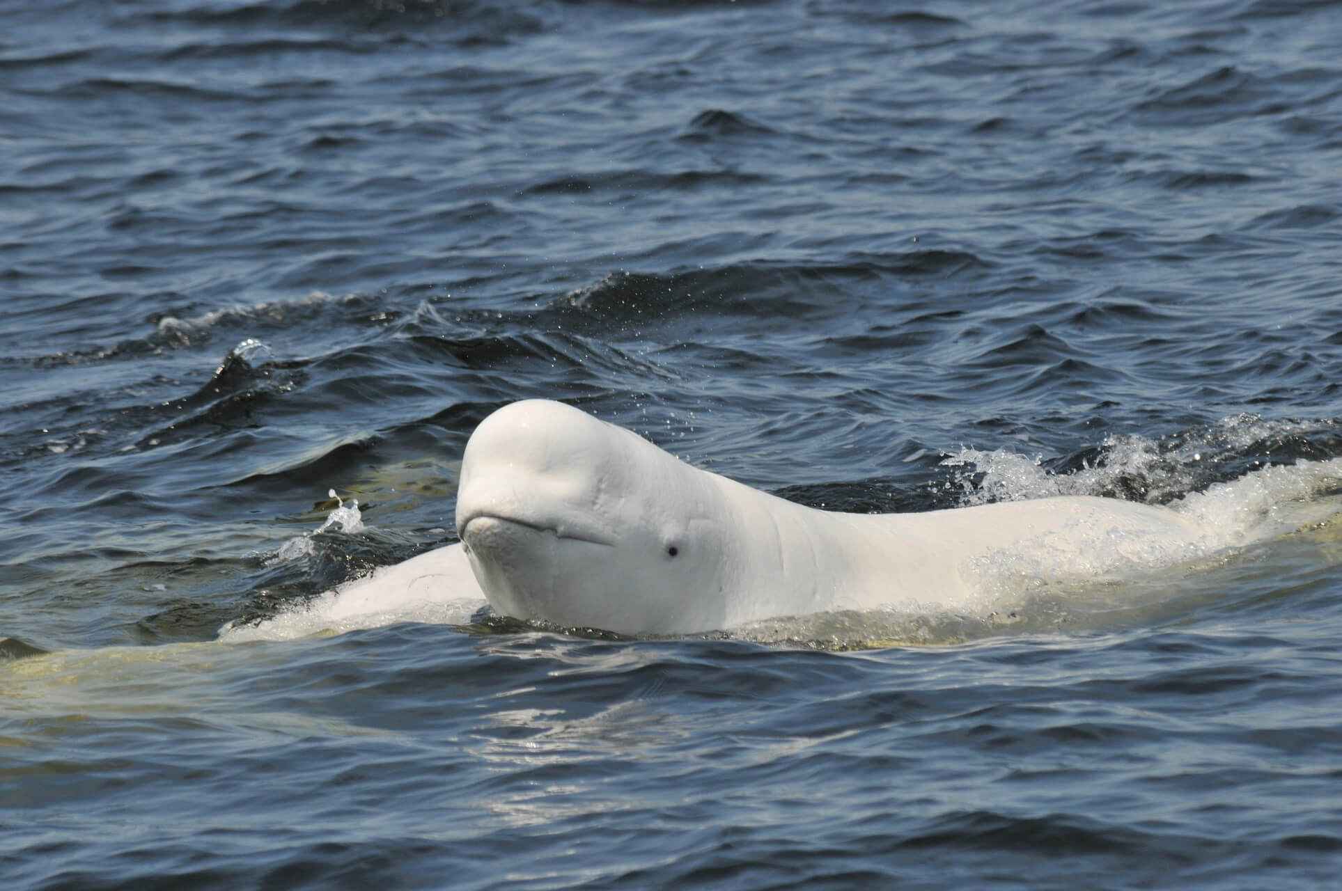
M 734 582 L 721 478 L 545 400 L 486 417 L 456 530 L 495 611 L 620 633 L 721 628 Z

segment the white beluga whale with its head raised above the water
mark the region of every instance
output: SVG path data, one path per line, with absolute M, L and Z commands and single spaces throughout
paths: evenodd
M 456 530 L 495 612 L 625 635 L 957 608 L 1002 573 L 1103 577 L 1224 546 L 1189 513 L 1092 495 L 910 514 L 817 510 L 548 400 L 480 421 L 462 460 Z

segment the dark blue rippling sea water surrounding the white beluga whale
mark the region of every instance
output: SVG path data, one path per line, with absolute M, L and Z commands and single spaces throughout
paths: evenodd
M 1327 887 L 1339 59 L 1308 1 L 0 1 L 4 886 Z M 454 541 L 522 397 L 831 509 L 1308 523 L 962 616 L 215 641 Z

